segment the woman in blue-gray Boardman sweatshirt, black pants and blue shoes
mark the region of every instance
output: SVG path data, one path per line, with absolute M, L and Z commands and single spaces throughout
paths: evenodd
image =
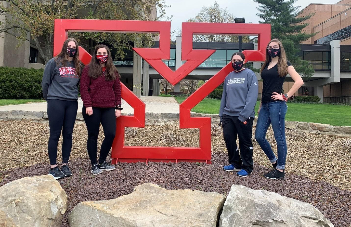
M 258 82 L 255 73 L 244 68 L 245 56 L 241 52 L 232 55 L 234 71 L 224 80 L 222 100 L 219 109 L 224 141 L 228 150 L 229 165 L 225 171 L 237 171 L 246 177 L 253 169 L 253 147 L 251 142 L 252 123 L 258 96 Z M 239 149 L 236 143 L 239 137 Z

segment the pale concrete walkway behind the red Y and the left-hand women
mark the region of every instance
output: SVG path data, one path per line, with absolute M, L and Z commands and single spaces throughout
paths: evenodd
M 146 104 L 146 113 L 179 113 L 179 104 L 173 97 L 141 96 Z M 82 112 L 83 102 L 78 99 L 78 112 Z M 122 112 L 133 113 L 133 108 L 122 99 Z M 47 103 L 28 103 L 20 105 L 0 106 L 0 111 L 22 110 L 22 111 L 47 111 Z

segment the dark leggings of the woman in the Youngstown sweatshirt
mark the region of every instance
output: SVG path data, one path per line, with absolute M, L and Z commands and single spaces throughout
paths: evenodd
M 47 116 L 49 118 L 50 137 L 47 145 L 51 165 L 56 164 L 57 145 L 62 130 L 62 163 L 68 163 L 72 150 L 72 132 L 77 117 L 78 101 L 59 99 L 47 100 Z

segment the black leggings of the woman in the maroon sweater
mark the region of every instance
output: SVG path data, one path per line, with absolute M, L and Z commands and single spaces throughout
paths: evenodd
M 116 135 L 116 115 L 114 108 L 93 107 L 93 114 L 87 115 L 86 108 L 83 106 L 83 118 L 88 129 L 87 150 L 91 164 L 97 164 L 98 136 L 100 122 L 104 129 L 104 141 L 100 148 L 99 164 L 106 161 L 106 157 L 111 150 L 114 136 Z

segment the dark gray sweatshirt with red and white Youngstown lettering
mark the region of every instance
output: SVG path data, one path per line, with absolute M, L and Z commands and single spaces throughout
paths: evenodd
M 73 61 L 67 61 L 66 66 L 62 66 L 57 65 L 52 58 L 46 64 L 41 81 L 45 100 L 78 100 L 78 84 L 79 78 Z

